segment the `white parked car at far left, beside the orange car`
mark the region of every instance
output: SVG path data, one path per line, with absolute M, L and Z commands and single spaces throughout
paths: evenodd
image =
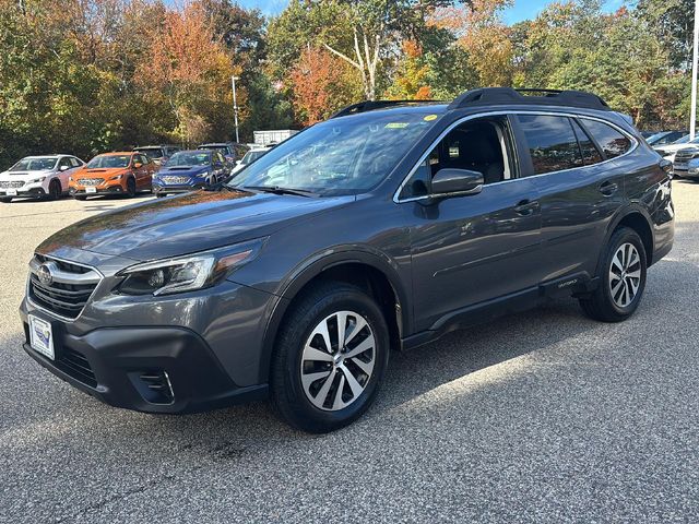
M 60 199 L 68 193 L 68 178 L 85 163 L 71 155 L 27 156 L 0 172 L 0 202 L 19 196 Z

